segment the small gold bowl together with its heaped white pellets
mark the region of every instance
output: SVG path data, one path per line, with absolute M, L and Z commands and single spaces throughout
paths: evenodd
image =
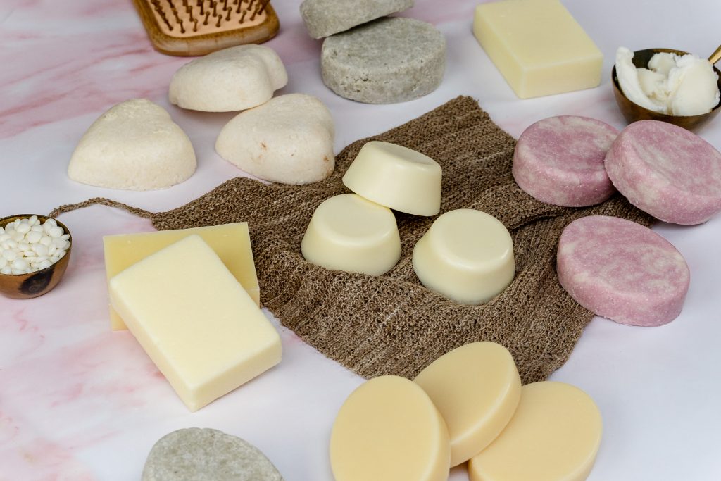
M 33 214 L 4 217 L 0 227 L 0 294 L 31 299 L 57 286 L 70 260 L 68 228 Z

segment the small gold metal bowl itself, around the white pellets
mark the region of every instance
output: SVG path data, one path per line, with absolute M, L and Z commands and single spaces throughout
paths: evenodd
M 28 219 L 33 215 L 37 214 L 21 214 L 19 216 L 9 216 L 0 219 L 0 226 L 6 226 L 15 219 Z M 37 216 L 40 222 L 45 222 L 50 217 L 48 216 Z M 32 273 L 27 274 L 0 274 L 0 294 L 12 299 L 31 299 L 32 297 L 42 296 L 52 291 L 55 286 L 58 285 L 66 268 L 68 267 L 68 261 L 70 260 L 70 251 L 73 248 L 73 237 L 70 234 L 70 230 L 60 221 L 57 221 L 58 226 L 61 226 L 65 233 L 70 235 L 68 241 L 70 241 L 70 247 L 63 257 L 58 260 L 55 264 L 51 264 L 45 269 L 36 270 Z

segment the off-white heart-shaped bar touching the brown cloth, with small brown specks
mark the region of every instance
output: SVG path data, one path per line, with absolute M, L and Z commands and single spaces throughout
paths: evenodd
M 218 135 L 216 151 L 263 180 L 310 184 L 332 174 L 334 136 L 323 102 L 288 94 L 236 115 Z

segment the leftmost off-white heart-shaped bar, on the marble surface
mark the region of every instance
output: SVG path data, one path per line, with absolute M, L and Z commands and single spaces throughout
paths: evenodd
M 164 189 L 195 172 L 195 151 L 170 114 L 146 99 L 111 107 L 80 139 L 68 177 L 125 190 Z

